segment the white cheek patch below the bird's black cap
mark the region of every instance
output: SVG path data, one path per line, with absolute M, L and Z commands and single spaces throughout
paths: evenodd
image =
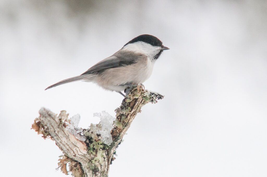
M 146 42 L 138 41 L 135 43 L 127 44 L 121 50 L 143 53 L 146 54 L 148 57 L 154 57 L 160 51 L 160 49 L 161 47 L 159 46 L 152 46 Z

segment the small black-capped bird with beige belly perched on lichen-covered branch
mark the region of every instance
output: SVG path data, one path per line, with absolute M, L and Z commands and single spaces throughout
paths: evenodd
M 121 91 L 131 84 L 142 84 L 146 81 L 152 73 L 156 59 L 163 50 L 168 49 L 155 36 L 143 34 L 133 38 L 115 54 L 96 63 L 80 76 L 60 81 L 45 90 L 83 80 L 125 96 Z

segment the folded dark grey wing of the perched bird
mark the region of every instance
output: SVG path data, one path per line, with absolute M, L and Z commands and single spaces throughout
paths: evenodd
M 89 68 L 87 71 L 85 71 L 83 74 L 91 74 L 95 73 L 104 69 L 108 68 L 116 68 L 120 66 L 127 66 L 131 65 L 133 63 L 136 63 L 140 57 L 143 55 L 141 54 L 136 54 L 136 53 L 130 53 L 129 51 L 127 52 L 117 52 L 111 57 L 108 57 L 98 63 L 96 63 L 94 66 Z

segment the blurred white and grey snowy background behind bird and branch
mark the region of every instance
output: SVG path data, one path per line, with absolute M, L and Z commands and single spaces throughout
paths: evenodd
M 80 75 L 140 34 L 171 50 L 146 89 L 165 98 L 133 121 L 109 176 L 267 176 L 266 1 L 0 1 L 1 176 L 65 176 L 31 130 L 41 107 L 115 116 L 122 96 Z

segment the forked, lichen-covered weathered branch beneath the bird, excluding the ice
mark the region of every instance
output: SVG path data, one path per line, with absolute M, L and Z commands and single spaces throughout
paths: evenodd
M 144 90 L 140 85 L 128 89 L 121 106 L 115 110 L 116 119 L 110 132 L 113 142 L 110 145 L 104 144 L 101 135 L 95 134 L 90 128 L 82 130 L 81 136 L 85 136 L 85 141 L 77 139 L 66 129 L 70 122 L 66 111 L 61 111 L 57 116 L 50 110 L 41 108 L 40 116 L 34 120 L 32 128 L 38 134 L 42 134 L 43 138 L 51 138 L 56 142 L 64 154 L 59 159 L 58 165 L 66 175 L 68 174 L 66 164 L 69 163 L 69 171 L 75 177 L 107 177 L 109 166 L 115 159 L 113 156 L 115 150 L 136 114 L 146 103 L 156 103 L 162 98 L 162 95 Z

